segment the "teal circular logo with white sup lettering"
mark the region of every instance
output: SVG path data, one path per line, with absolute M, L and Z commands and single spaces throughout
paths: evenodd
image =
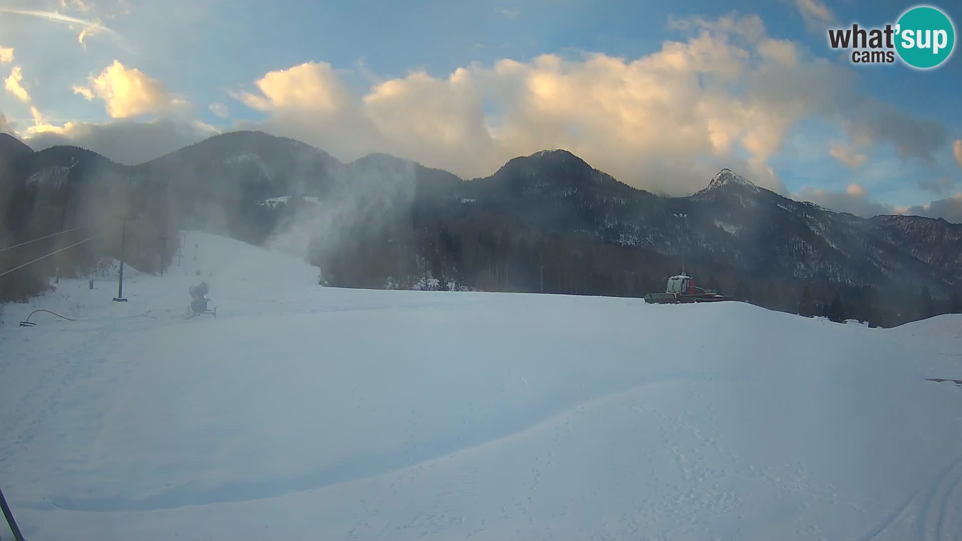
M 955 28 L 935 8 L 912 8 L 899 17 L 896 28 L 896 50 L 905 64 L 927 69 L 946 62 L 952 54 Z

